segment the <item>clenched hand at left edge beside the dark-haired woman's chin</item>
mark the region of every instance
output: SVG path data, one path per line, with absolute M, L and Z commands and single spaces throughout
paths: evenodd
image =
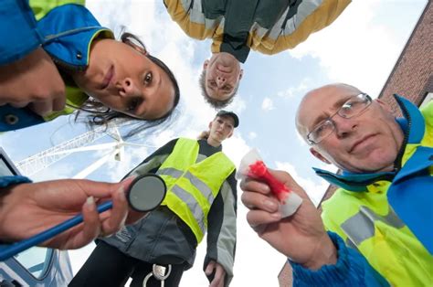
M 30 104 L 30 109 L 44 116 L 62 111 L 65 102 L 65 84 L 43 48 L 0 66 L 0 105 L 22 108 Z

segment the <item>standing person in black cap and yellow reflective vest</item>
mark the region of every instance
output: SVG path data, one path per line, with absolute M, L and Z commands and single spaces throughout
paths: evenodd
M 161 207 L 137 224 L 100 239 L 69 286 L 161 286 L 153 264 L 168 268 L 165 286 L 177 286 L 193 266 L 195 249 L 207 231 L 204 271 L 210 286 L 227 286 L 233 277 L 236 247 L 237 181 L 235 165 L 221 143 L 238 127 L 234 112 L 220 111 L 201 139 L 179 138 L 148 156 L 130 175 L 164 178 Z M 170 267 L 168 267 L 170 266 Z

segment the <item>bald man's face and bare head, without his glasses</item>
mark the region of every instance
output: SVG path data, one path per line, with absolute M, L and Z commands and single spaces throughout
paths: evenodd
M 313 90 L 301 102 L 298 112 L 302 135 L 306 136 L 337 112 L 344 101 L 359 93 L 338 85 Z M 312 146 L 312 154 L 354 173 L 392 170 L 404 136 L 385 103 L 373 101 L 361 114 L 350 119 L 335 115 L 333 122 L 335 130 Z

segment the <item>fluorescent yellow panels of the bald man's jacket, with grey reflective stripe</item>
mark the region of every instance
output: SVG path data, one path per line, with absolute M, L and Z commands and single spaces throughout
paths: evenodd
M 403 163 L 417 146 L 433 146 L 432 134 L 427 130 L 421 143 L 407 144 Z M 429 174 L 433 175 L 431 167 Z M 323 223 L 359 250 L 392 285 L 433 286 L 433 256 L 389 206 L 386 193 L 390 185 L 377 181 L 362 193 L 338 189 L 322 204 Z

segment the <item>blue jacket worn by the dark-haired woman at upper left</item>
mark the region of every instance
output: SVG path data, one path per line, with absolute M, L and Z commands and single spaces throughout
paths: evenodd
M 93 38 L 113 37 L 108 28 L 100 23 L 83 5 L 61 5 L 51 10 L 39 21 L 35 19 L 27 1 L 4 0 L 0 5 L 0 37 L 8 39 L 0 43 L 0 65 L 24 58 L 38 47 L 44 48 L 62 69 L 83 70 L 89 64 L 90 44 Z M 11 33 L 10 27 L 14 27 Z M 69 107 L 63 112 L 54 112 L 41 117 L 30 110 L 0 107 L 0 132 L 22 129 L 41 122 L 50 121 L 61 114 L 74 112 L 87 100 L 82 91 L 67 87 Z

